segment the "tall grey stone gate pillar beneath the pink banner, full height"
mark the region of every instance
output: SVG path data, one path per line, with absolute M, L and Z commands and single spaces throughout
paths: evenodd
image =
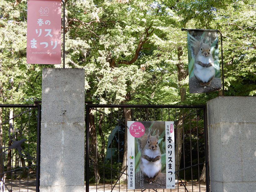
M 84 192 L 84 87 L 84 69 L 43 69 L 41 192 Z

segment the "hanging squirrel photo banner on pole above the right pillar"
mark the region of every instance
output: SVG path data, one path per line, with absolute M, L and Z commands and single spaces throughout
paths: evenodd
M 221 89 L 217 32 L 189 31 L 187 34 L 190 93 Z

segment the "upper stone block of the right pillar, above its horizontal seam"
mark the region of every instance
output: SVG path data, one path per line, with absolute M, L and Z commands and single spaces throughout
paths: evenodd
M 207 108 L 213 110 L 209 124 L 219 122 L 255 123 L 256 97 L 216 97 L 207 102 Z M 209 113 L 211 113 L 209 111 Z

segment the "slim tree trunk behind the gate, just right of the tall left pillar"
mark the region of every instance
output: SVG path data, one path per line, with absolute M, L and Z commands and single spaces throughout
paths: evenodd
M 96 166 L 97 164 L 97 156 L 98 156 L 98 150 L 97 150 L 97 135 L 96 135 L 96 129 L 95 129 L 95 123 L 94 123 L 94 115 L 91 113 L 89 114 L 89 132 L 91 136 L 91 150 L 92 150 L 92 157 L 90 158 L 93 163 L 93 170 L 94 170 L 94 175 L 95 175 L 95 181 L 98 183 L 100 180 L 100 173 L 99 173 L 99 168 Z M 87 170 L 89 171 L 89 170 Z

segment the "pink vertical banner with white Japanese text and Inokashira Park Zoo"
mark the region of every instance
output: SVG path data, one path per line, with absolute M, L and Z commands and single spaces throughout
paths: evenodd
M 27 63 L 61 63 L 61 0 L 28 0 Z

